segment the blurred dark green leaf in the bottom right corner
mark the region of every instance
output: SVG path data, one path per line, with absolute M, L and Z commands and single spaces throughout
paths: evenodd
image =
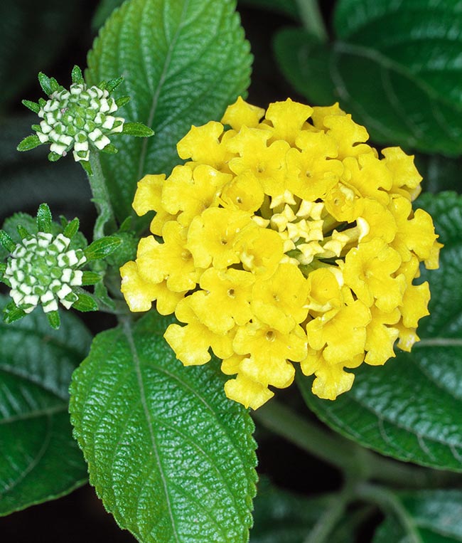
M 399 492 L 397 497 L 422 543 L 462 542 L 460 490 Z M 387 515 L 377 529 L 373 543 L 408 543 L 412 539 L 409 539 L 407 528 L 394 515 Z

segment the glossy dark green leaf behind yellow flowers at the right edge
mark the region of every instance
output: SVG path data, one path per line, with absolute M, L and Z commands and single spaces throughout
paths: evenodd
M 308 407 L 344 436 L 399 460 L 462 471 L 462 196 L 426 194 L 418 206 L 445 244 L 439 270 L 419 279 L 431 290 L 421 341 L 384 367 L 362 364 L 335 401 L 314 396 L 311 379 L 298 384 Z

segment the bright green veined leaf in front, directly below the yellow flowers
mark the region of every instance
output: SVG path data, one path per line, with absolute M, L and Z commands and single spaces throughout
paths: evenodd
M 154 312 L 99 334 L 72 378 L 90 483 L 141 543 L 245 543 L 256 475 L 249 413 L 218 361 L 183 367 Z

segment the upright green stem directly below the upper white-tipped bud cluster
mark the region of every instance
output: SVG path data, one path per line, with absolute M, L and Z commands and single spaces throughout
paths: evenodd
M 90 181 L 90 189 L 92 190 L 92 201 L 95 203 L 98 211 L 98 217 L 93 229 L 93 238 L 99 239 L 104 237 L 104 226 L 108 226 L 110 232 L 117 230 L 117 222 L 112 209 L 111 198 L 107 190 L 106 179 L 102 173 L 100 162 L 100 154 L 93 149 L 90 150 L 90 166 L 92 173 L 88 174 Z

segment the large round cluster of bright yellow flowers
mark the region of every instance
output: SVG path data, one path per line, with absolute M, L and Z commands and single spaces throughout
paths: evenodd
M 413 280 L 421 261 L 438 267 L 441 244 L 431 216 L 412 210 L 413 157 L 389 147 L 380 158 L 367 139 L 338 105 L 265 112 L 238 99 L 181 139 L 186 164 L 139 181 L 134 209 L 156 215 L 121 268 L 127 303 L 175 312 L 185 325 L 165 337 L 178 359 L 204 364 L 211 348 L 245 406 L 289 386 L 294 362 L 335 399 L 353 384 L 345 368 L 384 364 L 396 340 L 409 351 L 419 339 L 430 292 Z

